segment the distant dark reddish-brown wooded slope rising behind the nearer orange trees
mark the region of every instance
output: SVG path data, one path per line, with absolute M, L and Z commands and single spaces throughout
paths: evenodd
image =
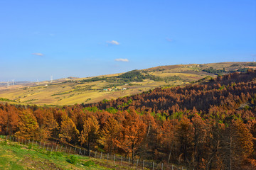
M 255 106 L 256 72 L 234 72 L 214 79 L 202 79 L 200 83 L 176 86 L 172 88 L 156 88 L 142 94 L 101 101 L 85 106 L 102 110 L 114 108 L 119 111 L 134 109 L 139 112 L 165 113 L 166 116 L 176 112 L 190 110 L 201 114 L 225 111 L 238 112 L 241 106 Z M 250 108 L 250 107 L 249 107 Z M 232 114 L 233 114 L 232 113 Z

